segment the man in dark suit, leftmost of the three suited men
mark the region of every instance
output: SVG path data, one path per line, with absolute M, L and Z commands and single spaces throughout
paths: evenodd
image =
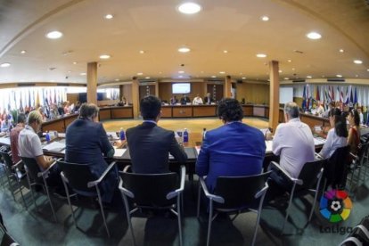
M 66 132 L 65 160 L 72 163 L 89 165 L 96 179 L 102 175 L 108 164 L 105 157 L 114 155 L 102 123 L 98 122 L 99 109 L 94 103 L 83 103 L 78 119 L 74 120 Z M 102 202 L 110 204 L 118 188 L 117 169 L 111 169 L 101 183 Z M 77 191 L 78 192 L 78 191 Z

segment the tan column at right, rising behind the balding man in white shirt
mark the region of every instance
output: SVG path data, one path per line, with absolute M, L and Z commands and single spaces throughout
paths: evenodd
M 279 62 L 269 61 L 269 79 L 270 79 L 270 90 L 269 90 L 269 127 L 275 132 L 279 122 Z

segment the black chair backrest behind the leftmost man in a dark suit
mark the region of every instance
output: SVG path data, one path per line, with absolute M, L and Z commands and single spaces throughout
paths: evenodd
M 94 187 L 88 188 L 87 183 L 96 180 L 98 177 L 91 173 L 88 164 L 71 163 L 58 160 L 58 167 L 62 174 L 67 178 L 68 184 L 72 189 L 95 193 Z

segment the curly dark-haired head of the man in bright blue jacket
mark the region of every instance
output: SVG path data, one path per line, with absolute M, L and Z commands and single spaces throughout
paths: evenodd
M 224 123 L 241 121 L 243 118 L 242 106 L 234 98 L 223 98 L 217 104 L 217 116 Z

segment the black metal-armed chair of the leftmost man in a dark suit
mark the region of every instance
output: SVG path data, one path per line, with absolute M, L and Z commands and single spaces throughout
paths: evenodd
M 73 217 L 73 222 L 76 227 L 78 227 L 76 222 L 76 217 L 74 216 L 74 211 L 70 203 L 70 191 L 68 186 L 73 189 L 75 193 L 82 196 L 97 197 L 100 205 L 100 210 L 102 212 L 103 224 L 105 225 L 106 233 L 108 237 L 111 236 L 109 232 L 108 225 L 106 224 L 105 213 L 102 206 L 102 196 L 99 188 L 102 180 L 107 176 L 107 174 L 114 168 L 116 162 L 111 162 L 108 168 L 102 173 L 98 179 L 91 173 L 91 170 L 87 164 L 70 163 L 67 161 L 57 160 L 59 168 L 61 168 L 61 179 L 64 184 L 65 193 L 67 193 L 68 203 L 70 204 L 70 211 Z

